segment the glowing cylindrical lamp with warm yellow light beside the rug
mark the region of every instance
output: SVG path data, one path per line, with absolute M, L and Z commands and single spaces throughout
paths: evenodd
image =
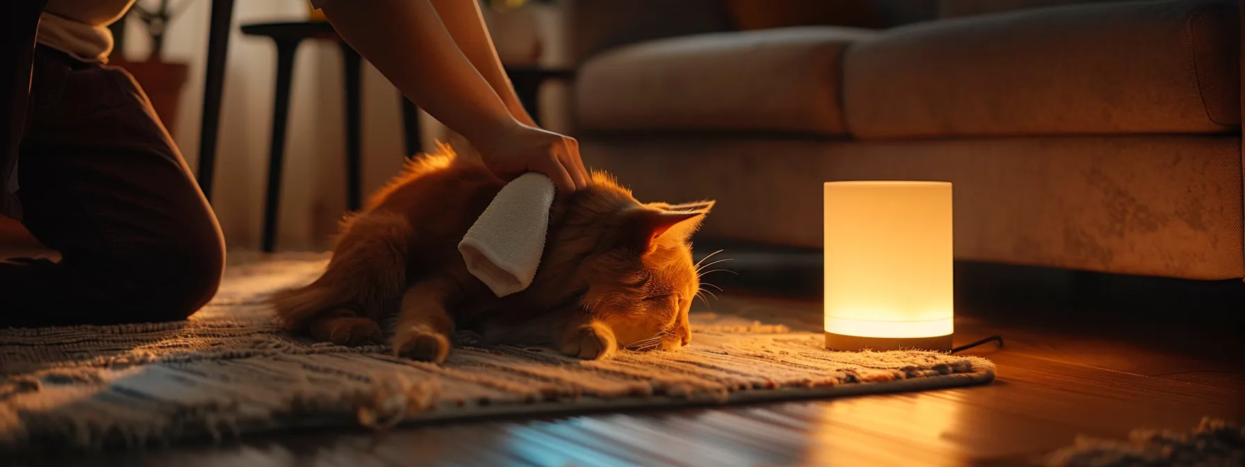
M 825 182 L 825 346 L 950 350 L 950 182 Z

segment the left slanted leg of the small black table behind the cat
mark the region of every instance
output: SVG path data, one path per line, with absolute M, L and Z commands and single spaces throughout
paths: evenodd
M 268 196 L 264 199 L 263 249 L 273 252 L 276 243 L 276 218 L 281 196 L 281 169 L 285 159 L 285 125 L 290 115 L 290 81 L 298 40 L 276 40 L 276 96 L 273 102 L 273 134 L 268 151 Z

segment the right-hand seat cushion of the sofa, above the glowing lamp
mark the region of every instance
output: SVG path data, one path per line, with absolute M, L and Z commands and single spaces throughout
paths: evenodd
M 865 138 L 1231 132 L 1236 7 L 1093 2 L 894 29 L 844 57 L 848 127 Z

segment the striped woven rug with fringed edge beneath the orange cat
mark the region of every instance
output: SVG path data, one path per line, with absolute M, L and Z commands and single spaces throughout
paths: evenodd
M 187 321 L 0 330 L 0 451 L 167 445 L 294 427 L 712 405 L 985 384 L 980 357 L 830 352 L 822 334 L 695 313 L 692 344 L 580 361 L 456 347 L 443 365 L 291 337 L 261 304 L 325 257 L 230 265 Z

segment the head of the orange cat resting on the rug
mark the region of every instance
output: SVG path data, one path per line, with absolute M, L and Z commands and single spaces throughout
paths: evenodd
M 687 311 L 700 291 L 690 237 L 713 202 L 641 203 L 596 172 L 588 188 L 558 204 L 561 228 L 550 232 L 547 258 L 560 259 L 563 293 L 580 294 L 581 310 L 620 347 L 687 345 Z

